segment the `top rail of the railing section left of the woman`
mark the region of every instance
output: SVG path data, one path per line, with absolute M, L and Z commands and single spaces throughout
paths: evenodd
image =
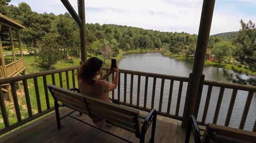
M 62 68 L 62 69 L 47 70 L 47 71 L 39 72 L 39 73 L 33 73 L 33 74 L 16 76 L 16 77 L 4 78 L 4 79 L 0 79 L 0 85 L 11 83 L 11 82 L 16 82 L 16 81 L 20 81 L 20 80 L 26 80 L 26 79 L 30 79 L 30 78 L 35 78 L 35 77 L 40 77 L 40 76 L 46 76 L 46 75 L 56 74 L 56 73 L 60 73 L 60 72 L 65 72 L 67 70 L 74 70 L 74 69 L 78 69 L 79 67 L 80 66 L 73 66 L 73 67 L 67 67 L 67 68 Z

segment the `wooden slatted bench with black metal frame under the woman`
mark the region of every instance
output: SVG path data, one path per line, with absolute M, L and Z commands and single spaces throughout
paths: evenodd
M 145 142 L 145 133 L 148 130 L 150 124 L 152 123 L 152 132 L 149 142 L 154 142 L 157 116 L 155 109 L 151 110 L 150 113 L 145 117 L 145 115 L 140 115 L 139 110 L 137 109 L 121 106 L 115 103 L 110 103 L 90 96 L 82 95 L 79 93 L 80 91 L 77 88 L 72 88 L 71 90 L 77 91 L 78 93 L 54 85 L 48 85 L 48 89 L 54 98 L 54 106 L 58 129 L 61 128 L 60 120 L 66 116 L 69 116 L 85 124 L 88 124 L 94 128 L 97 128 L 103 132 L 118 137 L 119 139 L 130 142 L 126 139 L 123 139 L 122 137 L 104 131 L 98 128 L 97 126 L 86 123 L 71 115 L 71 113 L 73 113 L 74 111 L 78 111 L 80 113 L 88 115 L 89 117 L 91 117 L 91 115 L 95 115 L 97 117 L 107 119 L 107 123 L 115 125 L 126 131 L 135 133 L 135 136 L 138 139 L 140 139 L 140 143 Z M 58 107 L 60 107 L 61 105 L 58 104 L 58 101 L 62 102 L 63 106 L 71 108 L 74 111 L 60 118 Z

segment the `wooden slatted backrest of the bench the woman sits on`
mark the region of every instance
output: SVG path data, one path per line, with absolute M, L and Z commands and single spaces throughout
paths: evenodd
M 139 110 L 82 95 L 54 85 L 48 85 L 48 87 L 54 100 L 62 102 L 66 107 L 89 116 L 95 115 L 107 119 L 109 123 L 127 131 L 136 134 L 139 132 Z

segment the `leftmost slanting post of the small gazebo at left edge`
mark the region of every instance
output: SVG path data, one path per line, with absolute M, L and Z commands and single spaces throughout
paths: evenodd
M 0 32 L 1 32 L 1 26 L 2 26 L 2 24 L 0 24 Z M 4 61 L 3 47 L 2 47 L 2 43 L 1 43 L 1 38 L 0 38 L 0 56 L 1 56 L 1 62 L 2 62 L 2 68 L 3 68 L 3 75 L 4 75 L 4 78 L 6 78 L 6 77 L 8 77 L 8 75 L 7 75 L 7 72 L 6 72 L 6 65 L 5 65 L 5 61 Z M 12 96 L 11 96 L 10 84 L 7 85 L 7 92 L 8 92 L 9 101 L 13 102 L 13 99 L 12 99 Z

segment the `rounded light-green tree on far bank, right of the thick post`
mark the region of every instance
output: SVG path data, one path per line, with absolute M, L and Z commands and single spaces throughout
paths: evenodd
M 218 60 L 219 64 L 231 58 L 234 51 L 234 45 L 228 41 L 222 41 L 215 44 L 212 48 L 214 57 Z

